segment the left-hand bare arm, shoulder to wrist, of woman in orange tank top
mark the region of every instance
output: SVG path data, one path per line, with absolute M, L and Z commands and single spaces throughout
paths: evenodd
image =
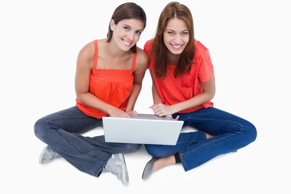
M 75 75 L 76 95 L 83 104 L 111 114 L 116 107 L 103 102 L 89 92 L 90 73 L 93 66 L 94 53 L 94 43 L 91 42 L 84 46 L 78 54 Z

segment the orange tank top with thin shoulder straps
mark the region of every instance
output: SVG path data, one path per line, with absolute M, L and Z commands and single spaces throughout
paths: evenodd
M 136 61 L 136 53 L 133 55 L 131 69 L 96 69 L 98 44 L 94 40 L 95 55 L 93 69 L 90 74 L 89 92 L 94 96 L 123 111 L 127 108 L 127 100 L 133 88 L 133 71 Z M 76 99 L 77 107 L 86 115 L 95 118 L 109 116 L 95 108 L 89 107 Z

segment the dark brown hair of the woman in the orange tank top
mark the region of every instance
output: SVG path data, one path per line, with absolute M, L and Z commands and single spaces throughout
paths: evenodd
M 139 19 L 144 22 L 144 29 L 146 28 L 146 13 L 143 8 L 135 3 L 128 2 L 119 5 L 115 11 L 111 19 L 114 20 L 115 25 L 117 25 L 121 20 L 124 19 Z M 143 30 L 144 30 L 143 29 Z M 107 43 L 110 43 L 113 36 L 113 31 L 110 28 L 110 23 L 108 27 L 107 33 Z M 133 53 L 136 53 L 136 45 L 130 48 Z

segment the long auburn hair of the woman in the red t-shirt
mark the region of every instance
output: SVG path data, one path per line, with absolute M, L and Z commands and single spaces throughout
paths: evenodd
M 163 41 L 163 33 L 165 32 L 167 23 L 172 18 L 182 19 L 189 30 L 189 42 L 181 53 L 177 67 L 174 71 L 175 78 L 183 75 L 186 71 L 191 70 L 194 64 L 194 24 L 191 11 L 183 4 L 178 2 L 170 2 L 162 10 L 159 18 L 156 35 L 152 43 L 152 54 L 154 57 L 154 76 L 156 78 L 165 78 L 167 73 L 167 52 L 168 49 Z

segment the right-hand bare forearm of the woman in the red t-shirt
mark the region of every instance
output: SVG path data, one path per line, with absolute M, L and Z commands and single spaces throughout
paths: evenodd
M 178 113 L 180 111 L 204 104 L 210 101 L 213 97 L 214 95 L 210 93 L 201 93 L 195 97 L 190 98 L 189 100 L 172 105 L 172 108 L 175 113 Z

